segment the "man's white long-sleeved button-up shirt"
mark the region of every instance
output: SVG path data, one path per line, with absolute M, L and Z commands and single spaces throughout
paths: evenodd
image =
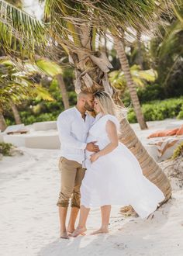
M 61 143 L 61 156 L 77 161 L 85 167 L 85 148 L 88 131 L 95 118 L 86 113 L 85 119 L 76 107 L 61 112 L 57 130 Z

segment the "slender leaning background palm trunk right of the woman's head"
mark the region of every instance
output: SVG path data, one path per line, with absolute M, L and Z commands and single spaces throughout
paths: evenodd
M 125 78 L 126 78 L 127 87 L 129 88 L 129 95 L 133 102 L 134 110 L 136 112 L 136 119 L 137 119 L 138 123 L 140 124 L 140 128 L 142 130 L 145 130 L 145 129 L 147 129 L 147 123 L 144 120 L 143 112 L 140 108 L 140 101 L 139 101 L 138 95 L 136 93 L 136 86 L 133 83 L 133 78 L 130 73 L 129 63 L 128 63 L 126 53 L 125 53 L 125 47 L 123 45 L 123 42 L 121 40 L 119 40 L 119 38 L 117 36 L 113 36 L 113 39 L 114 39 L 114 43 L 115 43 L 115 47 L 116 47 L 116 52 L 119 57 L 119 62 L 122 66 L 122 70 L 123 70 Z

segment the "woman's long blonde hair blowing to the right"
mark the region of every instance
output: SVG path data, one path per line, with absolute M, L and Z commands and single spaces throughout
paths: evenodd
M 95 92 L 94 97 L 98 100 L 99 106 L 105 115 L 110 114 L 116 116 L 119 120 L 126 118 L 128 108 L 116 105 L 108 92 Z

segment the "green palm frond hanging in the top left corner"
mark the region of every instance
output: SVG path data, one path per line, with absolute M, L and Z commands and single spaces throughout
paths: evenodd
M 0 0 L 0 40 L 8 54 L 32 58 L 36 52 L 43 54 L 49 35 L 46 24 Z

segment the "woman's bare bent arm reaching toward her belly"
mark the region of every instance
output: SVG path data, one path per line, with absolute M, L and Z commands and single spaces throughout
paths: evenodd
M 116 130 L 116 125 L 112 121 L 108 120 L 106 123 L 106 133 L 109 137 L 110 143 L 104 147 L 102 150 L 100 150 L 96 154 L 91 154 L 91 162 L 94 162 L 98 159 L 98 157 L 104 156 L 105 154 L 109 154 L 114 150 L 116 147 L 118 147 L 119 141 L 118 141 L 118 133 Z

